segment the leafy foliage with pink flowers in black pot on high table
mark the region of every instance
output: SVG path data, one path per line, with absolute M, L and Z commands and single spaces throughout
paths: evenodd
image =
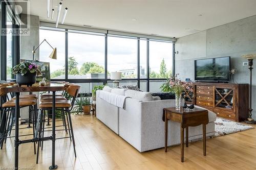
M 36 72 L 37 76 L 41 75 L 41 71 L 38 69 L 38 66 L 31 62 L 21 62 L 18 65 L 13 67 L 13 74 L 22 74 L 22 76 L 26 75 L 27 72 L 34 73 Z

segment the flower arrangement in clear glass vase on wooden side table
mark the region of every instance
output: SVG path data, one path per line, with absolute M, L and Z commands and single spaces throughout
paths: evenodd
M 176 110 L 180 110 L 181 103 L 181 94 L 187 89 L 189 90 L 191 82 L 182 82 L 179 78 L 179 74 L 176 74 L 174 77 L 170 78 L 170 91 L 175 93 L 175 107 Z

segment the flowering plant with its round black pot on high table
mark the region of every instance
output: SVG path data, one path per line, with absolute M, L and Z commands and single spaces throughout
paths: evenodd
M 32 86 L 32 84 L 36 82 L 36 75 L 41 75 L 41 71 L 38 69 L 38 66 L 30 62 L 21 62 L 14 66 L 12 73 L 16 75 L 16 83 L 19 86 Z

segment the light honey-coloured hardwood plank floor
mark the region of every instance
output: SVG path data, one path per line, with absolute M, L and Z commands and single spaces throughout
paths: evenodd
M 168 147 L 167 153 L 164 148 L 140 153 L 92 115 L 72 116 L 72 120 L 77 158 L 69 139 L 57 140 L 58 169 L 256 169 L 255 129 L 207 139 L 206 156 L 203 156 L 202 141 L 191 142 L 184 149 L 181 163 L 179 146 Z M 20 133 L 31 132 L 32 129 L 25 129 Z M 57 137 L 64 134 L 58 131 Z M 13 139 L 8 139 L 0 150 L 0 169 L 13 167 L 13 143 Z M 19 149 L 20 167 L 48 169 L 50 166 L 50 141 L 44 143 L 38 164 L 32 143 L 22 144 Z

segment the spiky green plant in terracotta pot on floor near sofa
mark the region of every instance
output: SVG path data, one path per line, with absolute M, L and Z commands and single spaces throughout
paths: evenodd
M 73 112 L 77 114 L 90 114 L 91 112 L 91 99 L 90 96 L 86 93 L 80 94 L 79 98 L 76 98 L 75 100 L 75 107 L 73 109 Z

